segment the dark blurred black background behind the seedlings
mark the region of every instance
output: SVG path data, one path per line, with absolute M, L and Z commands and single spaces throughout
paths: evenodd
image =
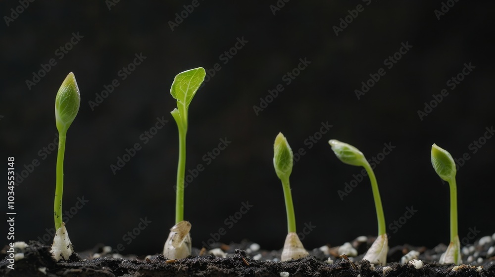
M 495 139 L 486 130 L 495 118 L 493 3 L 7 0 L 0 7 L 0 157 L 4 175 L 9 156 L 19 174 L 15 240 L 45 240 L 53 228 L 53 107 L 72 71 L 81 106 L 67 134 L 63 210 L 75 250 L 104 243 L 121 244 L 123 254 L 161 252 L 175 220 L 178 136 L 169 90 L 176 74 L 198 66 L 209 75 L 189 110 L 186 168 L 204 168 L 185 191 L 194 247 L 216 240 L 220 228 L 225 243 L 282 247 L 286 211 L 272 162 L 278 132 L 304 153 L 291 186 L 298 231 L 313 226 L 302 240 L 308 249 L 377 233 L 367 177 L 339 196 L 361 169 L 341 163 L 329 139 L 382 159 L 375 174 L 391 246 L 449 242 L 449 188 L 431 166 L 433 143 L 469 158 L 457 173 L 462 244 L 495 231 Z M 129 66 L 140 54 L 146 58 Z M 56 64 L 48 67 L 50 59 Z M 299 64 L 304 59 L 310 63 Z M 381 68 L 385 75 L 357 97 Z M 114 79 L 113 92 L 102 92 Z M 278 85 L 283 91 L 267 97 Z M 433 94 L 444 89 L 438 102 Z M 260 98 L 270 103 L 260 106 Z M 168 123 L 152 130 L 157 117 Z M 333 127 L 315 134 L 327 122 Z M 220 139 L 231 142 L 214 150 Z M 136 143 L 140 150 L 114 174 L 110 165 Z M 384 143 L 395 146 L 388 155 Z M 203 158 L 208 152 L 218 155 Z M 6 213 L 7 188 L 1 191 Z M 247 201 L 252 207 L 238 213 Z M 408 208 L 417 212 L 404 222 Z M 133 231 L 139 234 L 124 236 Z

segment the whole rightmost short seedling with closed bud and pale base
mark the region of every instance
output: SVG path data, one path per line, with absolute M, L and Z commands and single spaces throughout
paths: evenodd
M 441 264 L 456 264 L 462 263 L 460 253 L 460 241 L 457 233 L 457 185 L 455 184 L 455 168 L 454 159 L 445 149 L 437 144 L 432 145 L 432 165 L 438 176 L 446 182 L 450 187 L 450 243 L 447 250 L 440 257 Z

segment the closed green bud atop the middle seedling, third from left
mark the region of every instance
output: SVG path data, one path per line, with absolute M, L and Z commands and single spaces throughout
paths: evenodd
M 294 154 L 289 142 L 282 133 L 279 133 L 273 144 L 273 167 L 279 179 L 288 179 L 292 173 Z

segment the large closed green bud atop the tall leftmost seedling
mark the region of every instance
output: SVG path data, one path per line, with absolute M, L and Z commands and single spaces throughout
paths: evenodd
M 59 132 L 67 131 L 79 111 L 81 95 L 74 73 L 70 72 L 55 97 L 55 121 Z

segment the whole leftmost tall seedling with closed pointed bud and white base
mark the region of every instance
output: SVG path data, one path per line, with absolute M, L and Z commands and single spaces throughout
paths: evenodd
M 65 153 L 65 139 L 69 126 L 76 118 L 81 96 L 77 87 L 76 78 L 72 72 L 67 75 L 55 97 L 55 122 L 58 130 L 58 154 L 56 165 L 55 201 L 53 216 L 55 219 L 55 237 L 51 245 L 51 254 L 58 261 L 67 260 L 73 253 L 69 234 L 62 221 L 62 194 L 63 194 L 63 158 Z

